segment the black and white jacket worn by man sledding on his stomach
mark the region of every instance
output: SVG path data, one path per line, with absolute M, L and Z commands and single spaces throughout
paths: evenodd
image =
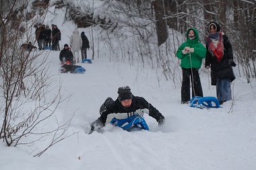
M 119 99 L 116 99 L 113 103 L 106 106 L 106 110 L 102 112 L 100 122 L 107 124 L 113 118 L 128 118 L 130 116 L 137 116 L 136 112 L 143 110 L 143 113 L 149 114 L 152 118 L 155 118 L 157 122 L 164 120 L 164 116 L 153 107 L 143 97 L 133 96 L 132 103 L 129 108 L 125 108 Z

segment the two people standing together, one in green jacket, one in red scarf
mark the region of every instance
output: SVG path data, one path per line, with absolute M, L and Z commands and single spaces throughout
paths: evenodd
M 203 97 L 203 90 L 198 70 L 201 68 L 202 59 L 205 58 L 205 68 L 211 68 L 212 85 L 216 85 L 217 99 L 220 104 L 231 100 L 231 85 L 235 76 L 232 67 L 236 64 L 233 60 L 232 46 L 228 36 L 220 30 L 220 25 L 211 22 L 207 26 L 207 41 L 204 47 L 199 42 L 199 34 L 195 28 L 187 30 L 187 41 L 183 42 L 177 50 L 177 57 L 181 59 L 183 81 L 181 87 L 181 103 L 190 101 L 190 79 L 192 97 Z

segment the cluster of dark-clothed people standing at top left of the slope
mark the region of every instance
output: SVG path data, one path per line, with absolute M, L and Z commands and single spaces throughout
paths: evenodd
M 57 25 L 52 24 L 51 26 L 51 29 L 48 25 L 45 26 L 44 24 L 34 26 L 36 28 L 35 34 L 39 50 L 60 50 L 59 40 L 61 40 L 61 31 L 57 28 Z

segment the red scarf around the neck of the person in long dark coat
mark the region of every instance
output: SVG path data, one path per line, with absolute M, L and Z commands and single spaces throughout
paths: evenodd
M 207 36 L 207 43 L 208 43 L 209 52 L 212 54 L 212 56 L 216 56 L 218 62 L 220 62 L 223 58 L 223 50 L 224 50 L 222 32 L 210 33 Z M 217 45 L 214 45 L 214 44 L 217 44 Z

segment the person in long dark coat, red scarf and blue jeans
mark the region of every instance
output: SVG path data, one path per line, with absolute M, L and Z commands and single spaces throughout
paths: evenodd
M 222 104 L 232 99 L 230 83 L 236 78 L 232 69 L 236 64 L 228 36 L 220 30 L 220 25 L 211 22 L 207 31 L 205 68 L 211 68 L 212 85 L 216 85 L 217 98 Z

